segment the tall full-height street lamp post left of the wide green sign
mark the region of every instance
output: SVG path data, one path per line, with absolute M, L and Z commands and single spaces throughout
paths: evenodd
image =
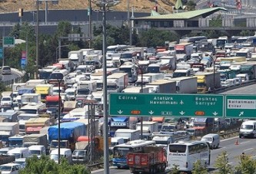
M 102 60 L 103 60 L 103 117 L 104 117 L 104 173 L 109 174 L 109 152 L 108 152 L 108 90 L 107 90 L 107 61 L 106 61 L 106 48 L 107 48 L 107 34 L 106 34 L 106 11 L 110 7 L 115 6 L 119 1 L 115 0 L 98 0 L 95 4 L 100 7 L 102 11 Z

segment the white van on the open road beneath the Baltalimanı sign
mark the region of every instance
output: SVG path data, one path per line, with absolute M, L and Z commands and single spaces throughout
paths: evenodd
M 255 120 L 244 121 L 240 127 L 239 138 L 241 138 L 242 136 L 248 136 L 248 137 L 254 138 L 255 135 L 256 135 L 256 121 Z

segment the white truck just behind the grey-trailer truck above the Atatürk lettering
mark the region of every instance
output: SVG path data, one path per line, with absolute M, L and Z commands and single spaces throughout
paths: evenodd
M 143 79 L 141 79 L 143 77 Z M 155 80 L 160 80 L 164 78 L 164 74 L 162 73 L 146 73 L 143 75 L 138 75 L 138 80 L 135 82 L 135 86 L 139 87 L 141 86 L 141 83 L 143 82 L 143 85 L 154 82 Z

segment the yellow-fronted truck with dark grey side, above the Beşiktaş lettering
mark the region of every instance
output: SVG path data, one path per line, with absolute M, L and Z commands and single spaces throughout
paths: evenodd
M 205 94 L 221 87 L 221 75 L 219 72 L 197 72 L 194 76 L 198 77 L 198 93 Z

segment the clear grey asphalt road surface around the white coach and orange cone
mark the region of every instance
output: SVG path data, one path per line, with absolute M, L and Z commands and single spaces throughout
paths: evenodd
M 238 145 L 236 145 L 236 141 L 238 140 Z M 224 151 L 228 153 L 228 162 L 231 166 L 238 165 L 238 157 L 241 153 L 250 154 L 253 157 L 256 157 L 256 149 L 255 149 L 256 139 L 239 139 L 238 136 L 235 136 L 230 139 L 221 140 L 220 148 L 214 149 L 211 151 L 211 166 L 209 166 L 209 171 L 214 171 L 214 163 L 218 158 L 218 155 Z M 162 172 L 162 173 L 167 173 Z M 95 174 L 103 174 L 104 169 L 98 169 L 92 171 L 91 173 Z M 129 174 L 130 171 L 128 169 L 117 169 L 116 167 L 111 166 L 110 168 L 111 174 Z

